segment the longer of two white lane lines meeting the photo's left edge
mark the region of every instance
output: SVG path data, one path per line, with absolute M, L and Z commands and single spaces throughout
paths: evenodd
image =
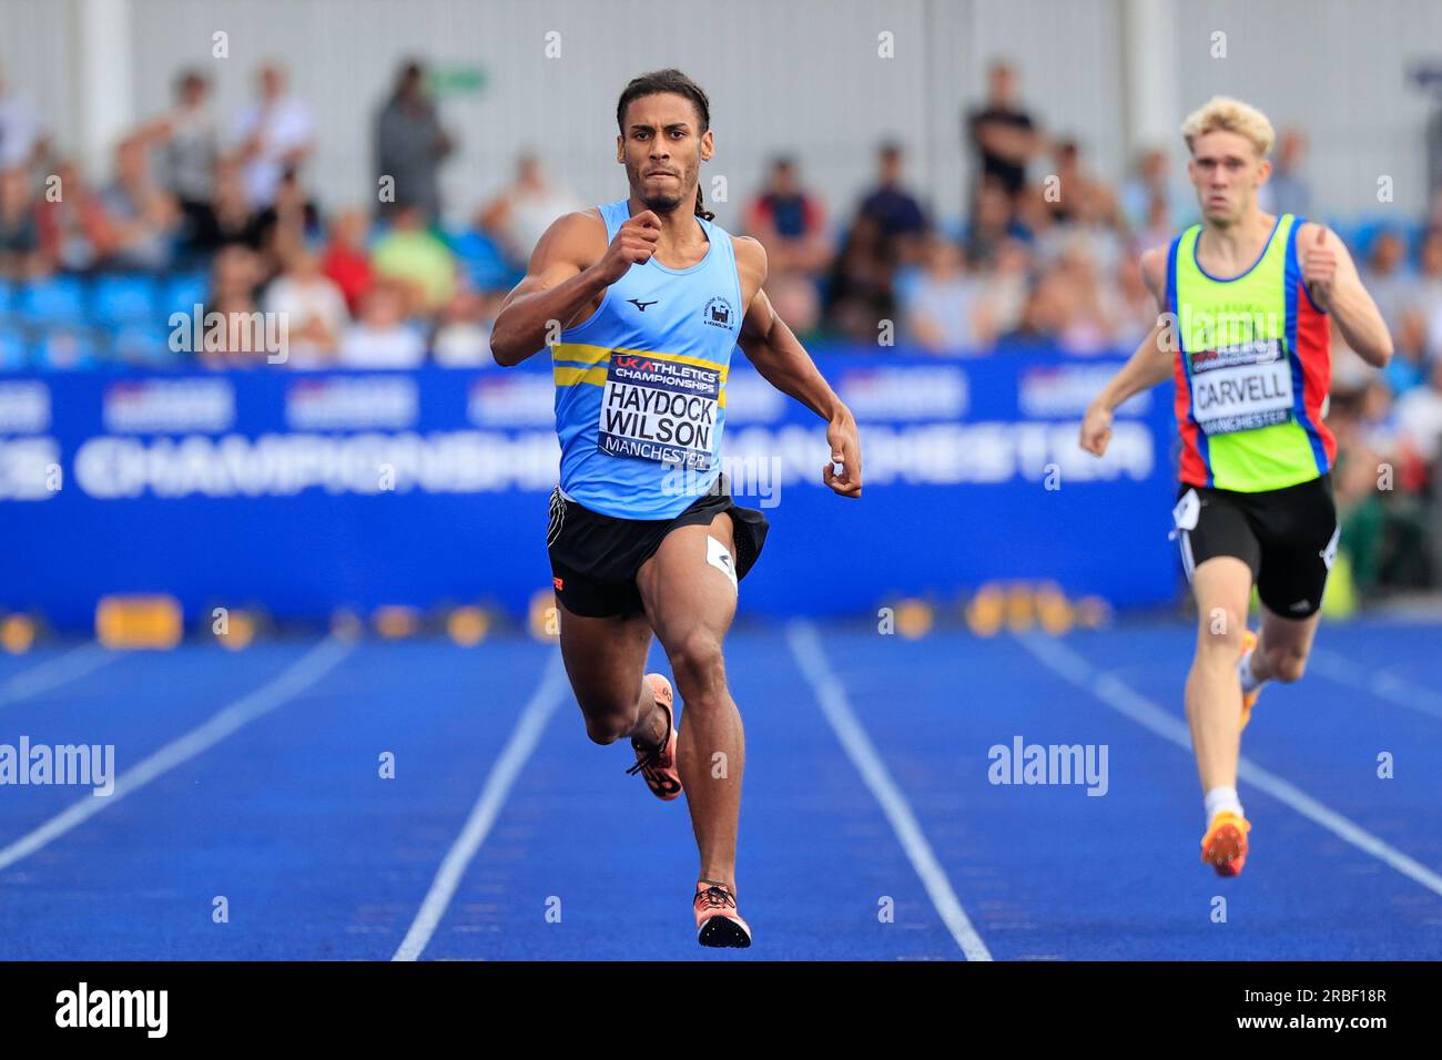
M 189 761 L 202 751 L 215 747 L 225 737 L 238 728 L 248 725 L 262 714 L 270 714 L 277 707 L 304 692 L 313 684 L 326 676 L 336 663 L 353 650 L 353 642 L 326 637 L 311 648 L 296 662 L 287 666 L 280 676 L 254 692 L 242 695 L 239 699 L 215 714 L 209 721 L 192 728 L 185 736 L 176 737 L 160 750 L 143 759 L 115 779 L 115 790 L 108 796 L 89 795 L 69 809 L 55 815 L 29 835 L 12 842 L 0 849 L 0 871 L 4 871 L 35 851 L 40 849 L 52 839 L 69 832 L 72 828 L 89 821 L 108 806 L 114 806 L 131 792 L 137 792 L 163 773 Z

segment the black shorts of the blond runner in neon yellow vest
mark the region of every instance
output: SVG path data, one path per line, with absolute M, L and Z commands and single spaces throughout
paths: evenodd
M 1273 614 L 1306 619 L 1322 606 L 1340 535 L 1330 474 L 1262 493 L 1182 483 L 1172 521 L 1188 581 L 1207 560 L 1233 555 Z

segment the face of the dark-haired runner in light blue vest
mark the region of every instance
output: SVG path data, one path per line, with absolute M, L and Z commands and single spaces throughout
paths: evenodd
M 647 209 L 671 212 L 696 200 L 701 163 L 712 150 L 711 130 L 702 136 L 699 128 L 696 108 L 684 95 L 643 95 L 626 107 L 616 160 Z

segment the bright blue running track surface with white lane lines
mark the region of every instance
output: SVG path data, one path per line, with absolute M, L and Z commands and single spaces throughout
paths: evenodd
M 1442 959 L 1439 627 L 1324 626 L 1266 689 L 1236 880 L 1198 860 L 1191 643 L 735 630 L 744 952 L 696 946 L 686 809 L 587 740 L 548 645 L 0 656 L 0 744 L 120 774 L 0 786 L 0 959 Z M 1105 747 L 1105 795 L 992 783 L 1018 737 Z

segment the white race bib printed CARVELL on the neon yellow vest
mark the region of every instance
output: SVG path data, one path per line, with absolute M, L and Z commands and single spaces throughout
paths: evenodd
M 1292 418 L 1292 366 L 1282 343 L 1227 346 L 1191 359 L 1191 411 L 1207 434 L 1272 427 Z

